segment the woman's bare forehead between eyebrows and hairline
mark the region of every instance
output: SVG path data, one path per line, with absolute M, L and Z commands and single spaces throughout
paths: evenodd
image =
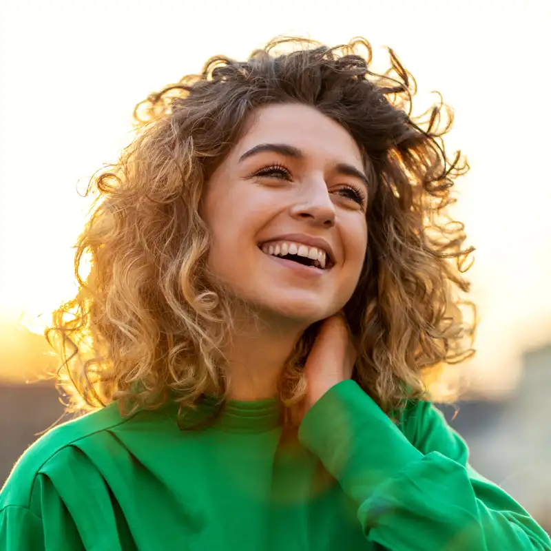
M 233 153 L 239 157 L 259 143 L 285 143 L 306 156 L 363 165 L 360 147 L 351 134 L 309 105 L 268 105 L 254 111 Z

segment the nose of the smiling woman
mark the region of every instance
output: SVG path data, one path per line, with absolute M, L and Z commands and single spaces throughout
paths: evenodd
M 335 205 L 323 178 L 300 187 L 300 195 L 291 207 L 293 218 L 304 220 L 311 225 L 331 228 L 335 225 Z

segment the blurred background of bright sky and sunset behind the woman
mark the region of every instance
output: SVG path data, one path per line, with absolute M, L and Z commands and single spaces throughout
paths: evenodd
M 471 463 L 551 531 L 551 3 L 548 0 L 3 0 L 0 7 L 0 484 L 59 418 L 42 336 L 74 291 L 87 181 L 131 137 L 133 107 L 278 34 L 391 46 L 455 110 L 448 152 L 471 170 L 453 212 L 477 248 L 468 273 L 477 355 L 454 369 Z M 79 194 L 80 192 L 80 194 Z M 37 382 L 38 381 L 38 382 Z M 454 417 L 455 415 L 455 417 Z M 452 420 L 453 418 L 453 420 Z

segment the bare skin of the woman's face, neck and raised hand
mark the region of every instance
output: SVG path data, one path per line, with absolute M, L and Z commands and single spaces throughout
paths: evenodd
M 247 153 L 267 143 L 291 146 L 300 156 L 271 150 Z M 284 104 L 253 113 L 207 182 L 201 214 L 211 232 L 209 269 L 258 312 L 253 323 L 246 312 L 236 311 L 239 330 L 225 350 L 229 397 L 275 395 L 278 375 L 295 342 L 320 320 L 326 322 L 306 366 L 305 410 L 333 384 L 351 376 L 353 351 L 339 312 L 351 298 L 366 254 L 367 189 L 362 175 L 362 154 L 344 127 L 313 107 Z M 313 278 L 260 250 L 262 242 L 287 233 L 324 238 L 335 265 Z

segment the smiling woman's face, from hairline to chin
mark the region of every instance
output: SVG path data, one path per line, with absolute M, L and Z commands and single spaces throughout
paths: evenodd
M 269 105 L 207 182 L 209 268 L 267 315 L 305 324 L 351 298 L 367 243 L 367 187 L 351 135 L 313 107 Z

